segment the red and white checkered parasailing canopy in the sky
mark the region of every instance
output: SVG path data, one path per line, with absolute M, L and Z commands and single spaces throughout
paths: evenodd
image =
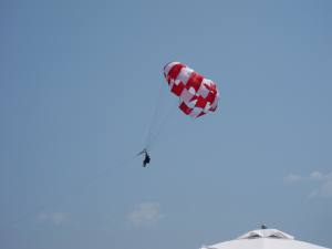
M 179 108 L 194 118 L 215 112 L 219 91 L 211 80 L 204 77 L 180 62 L 164 66 L 164 75 L 170 92 L 179 97 Z

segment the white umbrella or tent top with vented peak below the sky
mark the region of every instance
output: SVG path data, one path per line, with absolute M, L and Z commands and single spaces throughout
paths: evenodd
M 309 242 L 294 240 L 277 229 L 249 231 L 239 238 L 226 242 L 204 246 L 201 249 L 328 249 Z

